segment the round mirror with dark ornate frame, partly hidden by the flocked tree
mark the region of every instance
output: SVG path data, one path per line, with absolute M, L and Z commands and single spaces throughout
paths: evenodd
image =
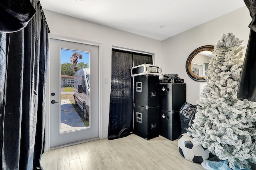
M 198 82 L 206 82 L 204 76 L 207 75 L 206 70 L 209 59 L 214 57 L 212 54 L 213 45 L 204 45 L 195 49 L 189 56 L 186 62 L 186 71 L 188 76 Z

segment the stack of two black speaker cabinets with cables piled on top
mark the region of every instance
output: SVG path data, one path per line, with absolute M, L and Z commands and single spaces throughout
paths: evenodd
M 181 134 L 179 111 L 186 102 L 185 83 L 160 83 L 160 131 L 159 134 L 171 141 Z

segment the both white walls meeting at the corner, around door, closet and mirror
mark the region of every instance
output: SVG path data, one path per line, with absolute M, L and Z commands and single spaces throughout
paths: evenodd
M 216 45 L 223 33 L 228 32 L 233 32 L 240 40 L 244 39 L 242 45 L 246 46 L 250 31 L 248 25 L 251 21 L 248 9 L 243 7 L 160 42 L 49 10 L 44 10 L 44 13 L 51 31 L 50 35 L 83 39 L 84 41 L 102 44 L 102 51 L 100 51 L 102 60 L 100 62 L 100 88 L 102 90 L 100 107 L 103 134 L 102 136 L 100 134 L 100 137 L 103 138 L 108 136 L 112 46 L 154 53 L 154 64 L 162 65 L 163 73 L 177 73 L 180 78 L 184 78 L 187 88 L 186 101 L 196 104 L 206 83 L 196 82 L 187 75 L 185 66 L 188 56 L 194 49 L 203 45 Z M 245 51 L 246 49 L 244 49 L 244 53 Z M 104 84 L 105 78 L 108 78 L 108 84 Z

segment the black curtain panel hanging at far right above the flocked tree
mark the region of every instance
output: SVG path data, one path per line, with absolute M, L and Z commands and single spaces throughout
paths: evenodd
M 237 97 L 256 102 L 256 1 L 244 0 L 250 11 L 250 36 L 244 57 L 244 65 L 238 86 Z

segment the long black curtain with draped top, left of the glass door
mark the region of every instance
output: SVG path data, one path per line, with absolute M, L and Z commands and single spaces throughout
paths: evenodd
M 44 148 L 50 31 L 38 0 L 4 2 L 7 5 L 0 3 L 2 6 L 6 5 L 6 12 L 11 9 L 11 16 L 21 20 L 12 23 L 0 17 L 0 25 L 3 24 L 0 27 L 1 168 L 40 169 Z M 13 5 L 15 3 L 16 6 Z M 32 4 L 35 14 L 25 15 L 31 16 L 30 20 L 22 20 L 23 14 L 30 14 L 24 11 L 33 12 L 31 8 L 27 8 L 29 3 Z M 24 8 L 24 11 L 15 11 L 16 8 Z M 19 22 L 26 27 L 21 28 Z M 7 33 L 8 31 L 12 33 Z

